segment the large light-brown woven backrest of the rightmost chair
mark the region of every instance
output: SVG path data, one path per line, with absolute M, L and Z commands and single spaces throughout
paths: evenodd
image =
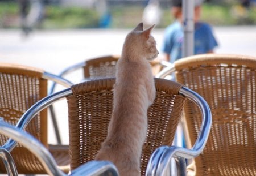
M 256 58 L 204 54 L 175 62 L 176 79 L 212 110 L 212 129 L 196 175 L 256 175 Z M 195 143 L 200 111 L 185 105 L 188 134 Z

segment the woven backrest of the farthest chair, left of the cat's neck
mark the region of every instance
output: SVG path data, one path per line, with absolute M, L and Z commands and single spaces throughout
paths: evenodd
M 103 78 L 115 76 L 115 65 L 118 59 L 118 56 L 108 55 L 85 61 L 84 77 Z

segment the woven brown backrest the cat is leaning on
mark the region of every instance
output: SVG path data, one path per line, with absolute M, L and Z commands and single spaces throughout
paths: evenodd
M 71 170 L 93 160 L 106 138 L 113 105 L 114 78 L 72 86 L 68 97 Z M 171 145 L 185 98 L 178 95 L 181 84 L 155 79 L 156 99 L 148 109 L 148 132 L 141 157 L 144 175 L 147 162 L 160 145 Z

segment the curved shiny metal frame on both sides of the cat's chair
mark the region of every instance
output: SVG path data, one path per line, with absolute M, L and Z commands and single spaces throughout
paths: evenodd
M 22 118 L 20 118 L 20 121 L 17 123 L 16 127 L 23 130 L 31 121 L 31 119 L 41 110 L 52 105 L 53 102 L 59 101 L 62 98 L 65 98 L 70 95 L 72 95 L 72 91 L 71 88 L 68 88 L 63 91 L 53 93 L 52 95 L 49 95 L 46 98 L 43 98 L 42 100 L 38 101 L 36 104 L 31 106 L 31 108 L 23 114 Z M 180 89 L 180 95 L 183 95 L 187 97 L 189 100 L 195 102 L 195 104 L 197 104 L 201 110 L 203 121 L 197 141 L 193 145 L 192 149 L 186 149 L 175 146 L 159 147 L 152 154 L 150 161 L 148 162 L 146 175 L 163 175 L 163 173 L 167 173 L 167 175 L 170 174 L 170 171 L 168 171 L 168 169 L 170 169 L 169 166 L 171 165 L 172 157 L 178 157 L 180 161 L 179 163 L 182 166 L 182 163 L 185 158 L 191 159 L 198 156 L 203 151 L 204 146 L 207 142 L 208 135 L 210 132 L 210 126 L 212 124 L 212 117 L 207 102 L 199 94 L 186 87 L 182 87 Z M 15 145 L 16 141 L 10 139 L 3 147 L 11 151 L 11 149 L 13 149 Z M 180 160 L 180 158 L 182 159 Z M 181 172 L 184 173 L 184 166 L 183 171 L 181 169 Z

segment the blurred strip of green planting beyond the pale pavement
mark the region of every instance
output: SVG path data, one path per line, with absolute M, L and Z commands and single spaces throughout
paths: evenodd
M 131 28 L 141 22 L 144 8 L 150 1 L 143 0 L 1 0 L 0 28 L 19 28 L 20 6 L 39 8 L 39 29 L 63 28 Z M 33 5 L 38 3 L 42 7 Z M 170 15 L 171 0 L 158 0 L 160 14 L 158 28 L 165 28 L 174 20 Z M 39 6 L 39 5 L 37 5 Z M 151 9 L 154 11 L 154 9 Z M 202 6 L 201 19 L 216 26 L 255 25 L 255 0 L 207 0 Z

